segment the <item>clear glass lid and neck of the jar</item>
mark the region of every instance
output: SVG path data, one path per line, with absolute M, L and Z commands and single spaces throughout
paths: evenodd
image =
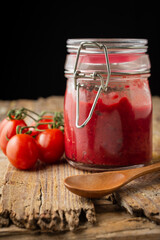
M 65 73 L 86 75 L 91 71 L 94 76 L 103 72 L 108 75 L 149 73 L 147 43 L 147 39 L 136 38 L 68 39 Z

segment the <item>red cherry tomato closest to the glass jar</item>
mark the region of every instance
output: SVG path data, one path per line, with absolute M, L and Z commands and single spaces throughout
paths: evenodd
M 64 153 L 64 134 L 59 129 L 47 129 L 37 137 L 39 159 L 45 163 L 54 163 Z

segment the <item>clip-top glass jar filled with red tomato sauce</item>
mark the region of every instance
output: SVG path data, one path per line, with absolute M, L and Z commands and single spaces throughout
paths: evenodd
M 149 163 L 152 100 L 147 40 L 69 39 L 67 48 L 67 161 L 92 171 Z

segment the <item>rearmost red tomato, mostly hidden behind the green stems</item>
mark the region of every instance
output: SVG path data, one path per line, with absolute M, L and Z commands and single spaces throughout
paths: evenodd
M 46 115 L 46 116 L 43 116 L 42 119 L 38 121 L 38 123 L 48 123 L 48 122 L 53 122 L 53 116 Z M 37 122 L 33 122 L 31 126 L 36 126 L 36 124 Z M 49 125 L 50 124 L 42 124 L 42 125 L 39 125 L 37 128 L 40 130 L 45 130 L 49 128 Z M 37 136 L 40 133 L 40 131 L 37 131 L 34 128 L 30 128 L 29 130 L 32 131 L 31 136 Z

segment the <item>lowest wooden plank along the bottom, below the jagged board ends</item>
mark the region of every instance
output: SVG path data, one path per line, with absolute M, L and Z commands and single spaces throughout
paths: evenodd
M 160 227 L 146 218 L 134 217 L 111 202 L 103 201 L 95 205 L 97 223 L 92 226 L 88 222 L 81 225 L 78 231 L 51 233 L 42 230 L 30 230 L 11 225 L 0 229 L 3 240 L 159 240 Z

